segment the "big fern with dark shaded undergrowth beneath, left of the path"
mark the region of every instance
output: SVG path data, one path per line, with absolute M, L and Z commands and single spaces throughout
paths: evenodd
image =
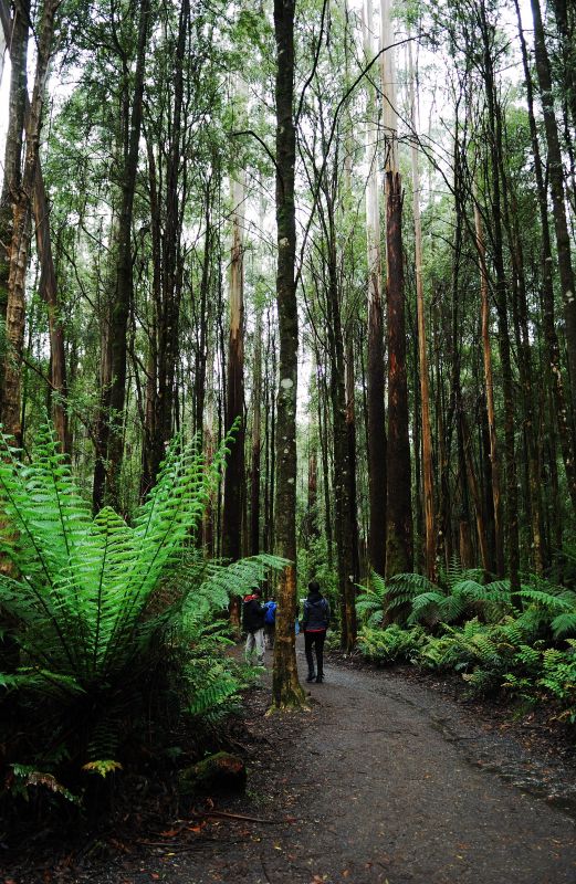
M 30 460 L 1 449 L 0 806 L 102 801 L 124 769 L 189 755 L 238 702 L 229 600 L 283 562 L 198 549 L 224 446 L 208 464 L 176 441 L 130 525 L 92 518 L 50 427 Z

